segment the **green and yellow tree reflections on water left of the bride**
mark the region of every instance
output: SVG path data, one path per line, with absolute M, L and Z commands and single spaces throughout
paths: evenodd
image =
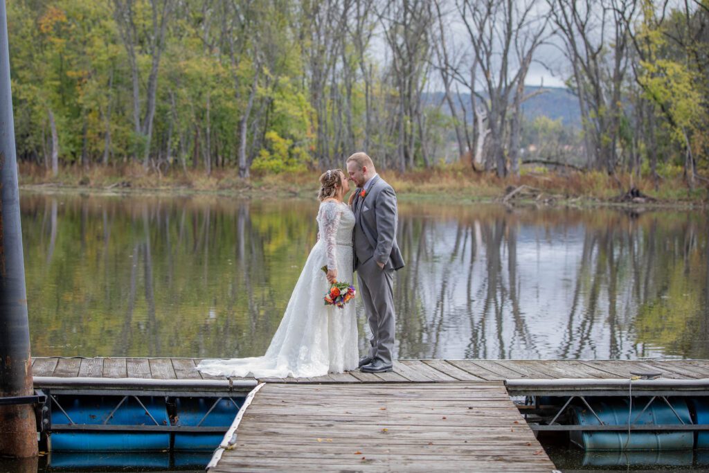
M 22 207 L 37 355 L 257 355 L 316 233 L 302 203 L 23 196 Z

